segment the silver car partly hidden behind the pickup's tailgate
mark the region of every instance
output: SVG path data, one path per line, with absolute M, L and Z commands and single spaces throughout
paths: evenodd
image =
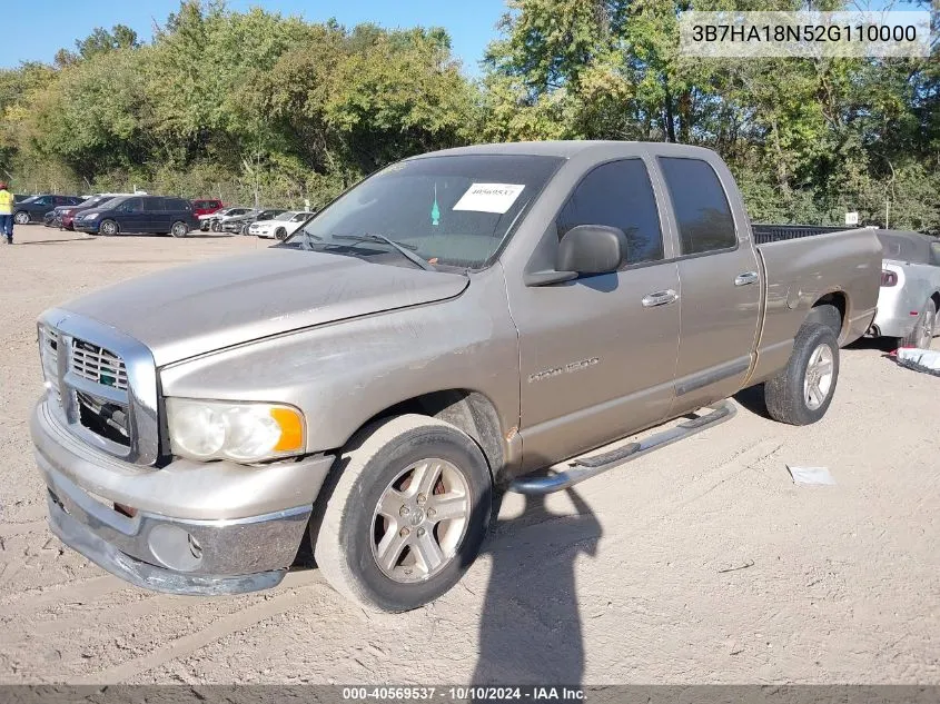
M 881 291 L 869 334 L 893 337 L 902 347 L 929 349 L 940 333 L 940 240 L 902 230 L 878 230 Z

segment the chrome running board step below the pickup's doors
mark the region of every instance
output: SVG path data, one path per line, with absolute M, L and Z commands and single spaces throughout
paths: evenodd
M 509 484 L 508 490 L 515 492 L 516 494 L 530 495 L 561 492 L 575 484 L 581 484 L 585 479 L 596 477 L 598 474 L 622 467 L 666 445 L 684 440 L 686 437 L 692 437 L 702 430 L 708 430 L 716 425 L 721 425 L 725 420 L 731 420 L 734 414 L 738 413 L 738 407 L 730 400 L 723 400 L 714 406 L 709 406 L 709 408 L 711 408 L 711 413 L 704 416 L 683 420 L 666 430 L 645 437 L 642 440 L 629 443 L 600 455 L 585 455 L 554 465 L 551 468 L 553 470 L 552 474 L 520 477 Z M 558 467 L 558 469 L 555 469 L 555 467 Z

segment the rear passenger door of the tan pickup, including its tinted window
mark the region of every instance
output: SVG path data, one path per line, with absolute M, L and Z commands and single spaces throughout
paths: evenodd
M 682 281 L 682 329 L 675 374 L 677 415 L 738 391 L 751 366 L 760 321 L 761 279 L 746 214 L 718 162 L 659 157 L 672 202 Z M 715 169 L 722 170 L 722 177 Z

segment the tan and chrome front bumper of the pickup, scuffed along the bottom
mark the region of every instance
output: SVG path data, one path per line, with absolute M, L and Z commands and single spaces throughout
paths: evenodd
M 261 489 L 257 479 L 271 467 L 211 463 L 200 476 L 197 466 L 174 463 L 157 469 L 100 455 L 71 436 L 44 403 L 37 406 L 30 429 L 48 488 L 52 533 L 111 574 L 171 594 L 239 594 L 280 583 L 334 460 L 320 455 L 276 467 L 273 478 L 285 486 Z M 161 498 L 171 507 L 180 503 L 172 497 L 188 495 L 187 504 L 197 500 L 192 515 L 218 514 L 221 495 L 208 490 L 214 484 L 224 486 L 232 500 L 221 504 L 229 503 L 237 517 L 177 517 L 155 510 Z M 204 506 L 198 505 L 200 494 Z M 299 505 L 271 510 L 278 498 Z

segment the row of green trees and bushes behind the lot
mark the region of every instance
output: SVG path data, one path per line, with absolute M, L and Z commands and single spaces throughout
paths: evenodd
M 803 4 L 508 0 L 475 82 L 441 28 L 345 28 L 184 0 L 148 43 L 121 24 L 97 28 L 53 66 L 0 70 L 0 175 L 23 189 L 137 186 L 301 207 L 432 149 L 667 140 L 718 150 L 755 220 L 839 224 L 858 210 L 864 222 L 940 231 L 936 53 L 677 52 L 683 10 Z

